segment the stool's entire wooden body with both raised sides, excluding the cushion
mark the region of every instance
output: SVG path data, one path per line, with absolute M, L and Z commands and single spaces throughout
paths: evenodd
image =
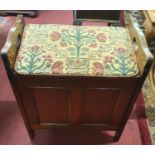
M 13 67 L 23 28 L 18 16 L 1 54 L 30 137 L 37 128 L 92 126 L 116 131 L 119 140 L 153 62 L 135 19 L 128 25 L 140 71 L 135 77 L 20 75 Z

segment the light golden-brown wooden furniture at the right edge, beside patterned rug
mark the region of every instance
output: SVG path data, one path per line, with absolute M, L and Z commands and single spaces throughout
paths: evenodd
M 145 21 L 143 23 L 144 33 L 149 46 L 151 46 L 152 53 L 154 55 L 154 62 L 149 73 L 149 82 L 153 94 L 153 102 L 155 106 L 155 10 L 143 11 Z

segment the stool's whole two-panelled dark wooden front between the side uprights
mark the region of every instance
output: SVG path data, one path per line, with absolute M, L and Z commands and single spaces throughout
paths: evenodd
M 94 126 L 116 130 L 138 78 L 52 77 L 16 74 L 32 127 Z

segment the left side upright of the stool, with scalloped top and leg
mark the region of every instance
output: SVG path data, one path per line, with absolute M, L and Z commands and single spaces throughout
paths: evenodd
M 5 69 L 7 71 L 9 81 L 12 86 L 12 90 L 16 97 L 17 104 L 23 116 L 23 120 L 26 125 L 27 131 L 29 133 L 30 138 L 33 138 L 34 132 L 31 129 L 29 121 L 27 119 L 23 104 L 21 102 L 22 99 L 20 95 L 18 94 L 18 88 L 16 86 L 15 76 L 13 73 L 13 67 L 14 67 L 16 56 L 17 56 L 18 48 L 20 46 L 20 41 L 21 41 L 24 25 L 25 23 L 24 23 L 23 16 L 18 15 L 15 24 L 11 27 L 9 31 L 6 43 L 1 50 L 1 56 L 4 62 Z

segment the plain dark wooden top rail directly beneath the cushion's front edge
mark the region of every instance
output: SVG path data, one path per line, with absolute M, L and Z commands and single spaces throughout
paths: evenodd
M 80 87 L 80 88 L 104 88 L 104 87 L 130 87 L 140 76 L 135 77 L 82 77 L 82 76 L 43 76 L 15 74 L 16 81 L 22 87 Z

